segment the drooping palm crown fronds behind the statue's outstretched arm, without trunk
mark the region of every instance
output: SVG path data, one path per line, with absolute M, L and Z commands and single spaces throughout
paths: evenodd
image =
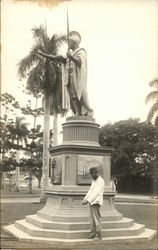
M 18 73 L 20 77 L 27 78 L 27 89 L 36 95 L 43 92 L 52 96 L 52 112 L 62 113 L 62 77 L 58 62 L 50 61 L 37 54 L 38 50 L 46 54 L 57 55 L 63 44 L 66 44 L 65 34 L 54 34 L 50 39 L 46 27 L 40 25 L 32 29 L 34 46 L 28 56 L 19 62 Z

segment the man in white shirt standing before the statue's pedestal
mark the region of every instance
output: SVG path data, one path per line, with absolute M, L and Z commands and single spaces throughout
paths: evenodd
M 90 175 L 93 179 L 90 189 L 82 201 L 82 205 L 89 203 L 89 217 L 91 233 L 88 239 L 102 239 L 102 224 L 100 207 L 103 205 L 104 180 L 98 175 L 96 167 L 90 168 Z

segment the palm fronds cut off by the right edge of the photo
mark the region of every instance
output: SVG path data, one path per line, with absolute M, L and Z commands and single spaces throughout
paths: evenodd
M 149 85 L 154 88 L 152 92 L 150 92 L 145 102 L 153 102 L 150 111 L 148 113 L 147 121 L 151 122 L 153 118 L 155 118 L 154 123 L 158 126 L 158 79 L 154 79 L 149 82 Z

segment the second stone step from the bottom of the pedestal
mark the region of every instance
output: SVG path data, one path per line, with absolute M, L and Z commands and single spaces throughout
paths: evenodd
M 16 221 L 15 226 L 18 229 L 26 232 L 31 236 L 37 237 L 52 237 L 52 238 L 64 238 L 64 239 L 82 239 L 87 238 L 89 235 L 89 230 L 54 230 L 54 229 L 44 229 L 37 227 L 25 220 Z M 115 228 L 115 229 L 103 229 L 103 237 L 118 237 L 118 236 L 134 236 L 139 235 L 145 230 L 144 225 L 134 224 L 129 228 Z

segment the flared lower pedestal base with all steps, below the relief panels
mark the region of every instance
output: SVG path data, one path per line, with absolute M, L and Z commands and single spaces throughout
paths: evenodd
M 65 192 L 65 193 L 64 193 Z M 88 206 L 81 206 L 84 192 L 48 191 L 48 199 L 37 214 L 26 216 L 4 227 L 19 239 L 37 242 L 84 242 L 90 233 Z M 125 218 L 114 207 L 114 194 L 104 194 L 101 208 L 104 241 L 141 241 L 154 237 L 156 231 Z

